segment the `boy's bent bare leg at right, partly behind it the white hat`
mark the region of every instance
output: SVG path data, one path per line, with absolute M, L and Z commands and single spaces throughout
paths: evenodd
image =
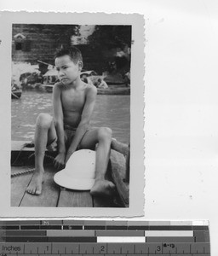
M 98 147 L 96 150 L 95 184 L 90 193 L 91 195 L 112 195 L 115 185 L 105 179 L 111 152 L 112 130 L 102 127 L 87 131 L 80 143 L 80 148 L 94 149 L 96 143 L 98 143 Z

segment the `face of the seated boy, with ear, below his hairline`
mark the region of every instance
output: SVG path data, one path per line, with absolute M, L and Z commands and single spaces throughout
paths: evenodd
M 63 55 L 55 59 L 58 77 L 63 84 L 71 84 L 79 78 L 82 65 L 81 61 L 77 61 L 77 64 L 75 64 L 69 55 Z

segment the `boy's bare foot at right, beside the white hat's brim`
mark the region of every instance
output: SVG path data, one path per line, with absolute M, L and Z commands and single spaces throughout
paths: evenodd
M 115 192 L 114 183 L 105 179 L 95 180 L 95 184 L 90 190 L 91 195 L 101 195 L 101 196 L 110 196 L 114 192 Z

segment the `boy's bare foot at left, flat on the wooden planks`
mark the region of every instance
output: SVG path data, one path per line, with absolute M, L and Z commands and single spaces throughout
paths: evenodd
M 31 195 L 40 195 L 42 193 L 43 172 L 35 172 L 32 177 L 30 185 L 26 192 Z

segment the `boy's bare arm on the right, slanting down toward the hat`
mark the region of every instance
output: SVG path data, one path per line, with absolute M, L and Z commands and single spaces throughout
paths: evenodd
M 89 128 L 89 121 L 95 107 L 96 95 L 97 89 L 94 85 L 92 85 L 87 91 L 81 121 L 77 126 L 77 131 L 75 133 L 75 136 L 73 137 L 72 144 L 66 153 L 66 162 L 67 160 L 69 160 L 71 155 L 76 151 L 78 144 L 81 142 L 83 138 L 83 135 Z

